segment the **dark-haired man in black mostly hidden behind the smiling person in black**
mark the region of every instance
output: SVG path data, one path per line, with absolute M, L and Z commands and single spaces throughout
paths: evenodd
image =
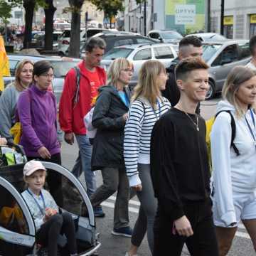
M 172 61 L 169 68 L 166 69 L 168 73 L 168 80 L 166 81 L 166 89 L 162 91 L 162 95 L 166 97 L 171 103 L 171 106 L 175 106 L 181 97 L 181 92 L 178 90 L 175 78 L 175 67 L 179 61 L 188 57 L 202 57 L 203 45 L 201 40 L 197 36 L 187 36 L 181 39 L 178 44 L 178 58 Z M 200 103 L 196 108 L 196 113 L 200 114 Z

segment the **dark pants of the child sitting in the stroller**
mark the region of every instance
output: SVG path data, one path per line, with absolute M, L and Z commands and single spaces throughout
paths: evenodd
M 57 256 L 59 234 L 65 234 L 68 240 L 69 253 L 77 253 L 75 225 L 70 213 L 61 213 L 50 217 L 36 233 L 36 242 L 43 247 L 48 247 L 48 256 Z

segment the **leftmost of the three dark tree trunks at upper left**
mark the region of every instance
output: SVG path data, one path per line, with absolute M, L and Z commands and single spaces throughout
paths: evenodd
M 25 9 L 25 32 L 23 48 L 29 48 L 32 39 L 32 23 L 33 23 L 33 12 L 36 6 L 35 0 L 24 0 L 23 7 Z

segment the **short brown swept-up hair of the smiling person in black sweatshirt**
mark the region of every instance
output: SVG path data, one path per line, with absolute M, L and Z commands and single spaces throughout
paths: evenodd
M 200 57 L 189 57 L 181 60 L 175 68 L 176 80 L 186 80 L 188 78 L 188 73 L 193 70 L 205 69 L 207 70 L 209 66 Z

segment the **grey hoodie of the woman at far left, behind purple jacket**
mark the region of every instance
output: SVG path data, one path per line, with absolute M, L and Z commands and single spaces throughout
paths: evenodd
M 0 97 L 0 134 L 11 142 L 13 138 L 9 130 L 15 123 L 16 104 L 20 93 L 14 83 L 11 83 Z

